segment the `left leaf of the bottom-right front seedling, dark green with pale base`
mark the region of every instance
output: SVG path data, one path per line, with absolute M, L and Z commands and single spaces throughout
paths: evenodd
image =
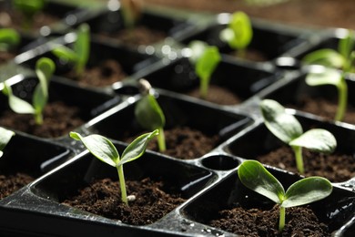
M 285 191 L 268 170 L 257 160 L 246 160 L 238 168 L 239 180 L 250 190 L 269 198 L 271 201 L 281 203 Z

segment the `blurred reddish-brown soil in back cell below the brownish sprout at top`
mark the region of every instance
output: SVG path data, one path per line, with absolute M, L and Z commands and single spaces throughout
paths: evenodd
M 135 26 L 133 29 L 121 29 L 116 34 L 102 33 L 102 36 L 115 38 L 128 46 L 149 46 L 162 41 L 167 34 L 146 26 Z

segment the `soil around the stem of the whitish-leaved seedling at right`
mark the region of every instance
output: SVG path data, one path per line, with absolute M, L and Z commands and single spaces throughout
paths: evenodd
M 322 154 L 302 149 L 305 176 L 321 176 L 333 182 L 350 180 L 355 175 L 355 159 L 345 154 Z M 295 156 L 289 147 L 272 150 L 256 158 L 261 163 L 298 173 Z

